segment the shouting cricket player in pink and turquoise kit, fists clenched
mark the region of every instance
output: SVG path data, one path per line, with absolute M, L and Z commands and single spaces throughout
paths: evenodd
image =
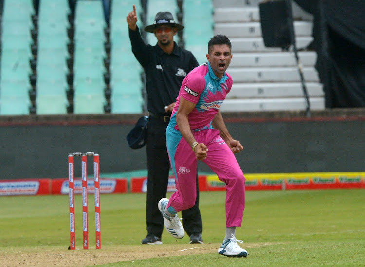
M 170 123 L 166 129 L 167 151 L 177 191 L 159 201 L 167 231 L 184 236 L 177 212 L 195 204 L 197 161 L 207 164 L 226 184 L 226 235 L 218 253 L 247 257 L 235 237 L 245 208 L 245 178 L 234 153 L 243 147 L 229 134 L 219 108 L 231 90 L 232 78 L 225 71 L 231 59 L 231 42 L 217 35 L 208 43 L 208 62 L 196 67 L 183 80 Z

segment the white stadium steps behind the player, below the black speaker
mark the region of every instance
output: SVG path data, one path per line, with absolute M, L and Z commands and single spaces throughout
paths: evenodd
M 293 51 L 267 48 L 261 35 L 259 0 L 213 0 L 214 34 L 224 34 L 232 43 L 228 73 L 233 87 L 221 110 L 278 111 L 304 110 L 302 84 Z M 312 41 L 310 15 L 293 3 L 294 28 L 298 48 Z M 299 52 L 304 79 L 313 110 L 324 109 L 324 93 L 314 68 L 316 53 Z

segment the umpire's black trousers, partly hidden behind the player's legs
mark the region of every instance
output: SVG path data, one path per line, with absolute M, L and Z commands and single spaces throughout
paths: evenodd
M 147 232 L 161 237 L 164 219 L 158 209 L 158 202 L 166 197 L 170 161 L 166 148 L 166 128 L 168 122 L 161 118 L 149 116 L 147 130 Z M 199 187 L 197 174 L 197 199 L 195 205 L 182 211 L 183 226 L 190 236 L 202 232 L 201 214 L 199 210 Z

